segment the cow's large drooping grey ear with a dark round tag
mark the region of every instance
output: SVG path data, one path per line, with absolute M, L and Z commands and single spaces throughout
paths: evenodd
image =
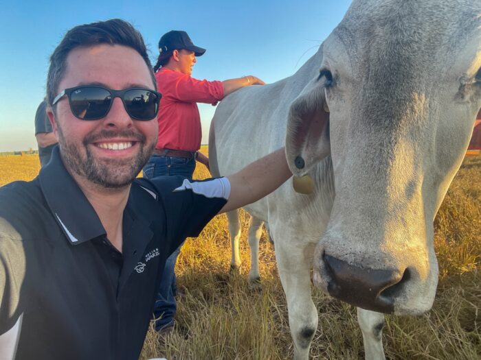
M 295 176 L 302 176 L 329 154 L 331 143 L 326 92 L 324 84 L 314 84 L 295 99 L 289 109 L 287 162 Z

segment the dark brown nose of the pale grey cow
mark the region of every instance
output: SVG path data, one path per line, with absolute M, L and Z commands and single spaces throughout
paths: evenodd
M 397 269 L 370 269 L 350 265 L 333 256 L 324 255 L 326 270 L 331 276 L 328 293 L 363 309 L 392 313 L 394 297 L 410 272 Z

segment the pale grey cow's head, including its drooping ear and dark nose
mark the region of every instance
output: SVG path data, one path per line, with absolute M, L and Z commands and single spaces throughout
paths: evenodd
M 293 172 L 329 149 L 333 163 L 315 283 L 365 309 L 422 313 L 434 300 L 433 220 L 481 107 L 481 5 L 446 3 L 353 3 L 291 106 Z

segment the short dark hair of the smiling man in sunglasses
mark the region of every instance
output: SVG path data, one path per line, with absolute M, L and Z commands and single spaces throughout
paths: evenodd
M 124 45 L 136 50 L 144 58 L 152 76 L 155 90 L 157 90 L 157 82 L 155 81 L 152 64 L 150 64 L 142 35 L 130 23 L 120 19 L 111 19 L 78 25 L 65 34 L 52 56 L 50 56 L 50 67 L 47 75 L 47 100 L 50 106 L 52 106 L 52 101 L 57 95 L 58 84 L 65 75 L 67 56 L 70 51 L 76 47 L 89 47 L 100 44 Z

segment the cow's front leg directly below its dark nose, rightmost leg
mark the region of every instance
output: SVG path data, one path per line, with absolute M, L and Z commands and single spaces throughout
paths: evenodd
M 366 360 L 384 360 L 382 339 L 384 315 L 358 307 L 357 321 L 362 331 Z

